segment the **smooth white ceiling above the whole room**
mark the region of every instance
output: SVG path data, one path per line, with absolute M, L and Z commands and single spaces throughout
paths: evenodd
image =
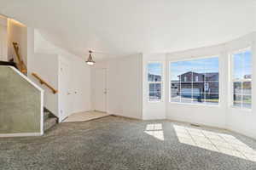
M 0 0 L 0 14 L 79 56 L 166 53 L 256 29 L 254 0 Z

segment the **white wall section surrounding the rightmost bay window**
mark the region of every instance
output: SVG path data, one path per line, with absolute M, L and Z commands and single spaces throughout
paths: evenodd
M 242 110 L 229 107 L 227 111 L 227 127 L 256 139 L 256 32 L 241 37 L 225 45 L 227 51 L 236 51 L 242 48 L 252 48 L 253 52 L 253 80 L 252 80 L 252 110 Z M 230 89 L 230 97 L 232 89 Z M 230 99 L 231 101 L 231 99 Z M 231 102 L 230 102 L 231 105 Z

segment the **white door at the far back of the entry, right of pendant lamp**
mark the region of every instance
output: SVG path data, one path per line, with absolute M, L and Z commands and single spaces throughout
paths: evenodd
M 106 69 L 96 69 L 95 71 L 95 110 L 107 111 L 107 87 L 106 87 Z

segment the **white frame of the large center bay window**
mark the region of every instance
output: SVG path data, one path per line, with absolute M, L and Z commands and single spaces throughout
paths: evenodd
M 201 105 L 201 106 L 209 106 L 209 107 L 220 107 L 221 105 L 221 80 L 220 80 L 220 76 L 221 76 L 221 71 L 219 70 L 219 65 L 220 65 L 220 56 L 221 54 L 211 54 L 211 55 L 205 55 L 205 56 L 202 56 L 202 57 L 191 57 L 191 58 L 183 58 L 183 59 L 173 59 L 173 60 L 169 60 L 168 62 L 168 77 L 169 77 L 169 81 L 168 81 L 168 98 L 169 98 L 169 103 L 171 104 L 177 104 L 177 105 Z M 208 59 L 208 58 L 218 58 L 218 104 L 217 105 L 207 105 L 205 103 L 201 103 L 201 104 L 198 104 L 198 103 L 185 103 L 185 102 L 177 102 L 177 101 L 172 101 L 172 78 L 171 78 L 171 69 L 172 69 L 172 66 L 171 64 L 172 63 L 175 63 L 175 62 L 181 62 L 181 61 L 191 61 L 191 60 L 195 60 L 195 59 Z M 192 80 L 193 82 L 193 80 Z M 191 82 L 191 83 L 192 83 Z M 205 81 L 204 81 L 205 82 Z M 215 82 L 215 81 L 213 81 Z M 217 81 L 216 81 L 217 82 Z M 193 89 L 193 88 L 192 88 Z M 213 94 L 217 94 L 217 93 L 213 93 Z M 192 99 L 191 99 L 192 100 Z

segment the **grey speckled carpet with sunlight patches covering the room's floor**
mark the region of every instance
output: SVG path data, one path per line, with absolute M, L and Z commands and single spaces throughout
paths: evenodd
M 2 170 L 256 170 L 256 141 L 171 121 L 106 116 L 0 139 Z

